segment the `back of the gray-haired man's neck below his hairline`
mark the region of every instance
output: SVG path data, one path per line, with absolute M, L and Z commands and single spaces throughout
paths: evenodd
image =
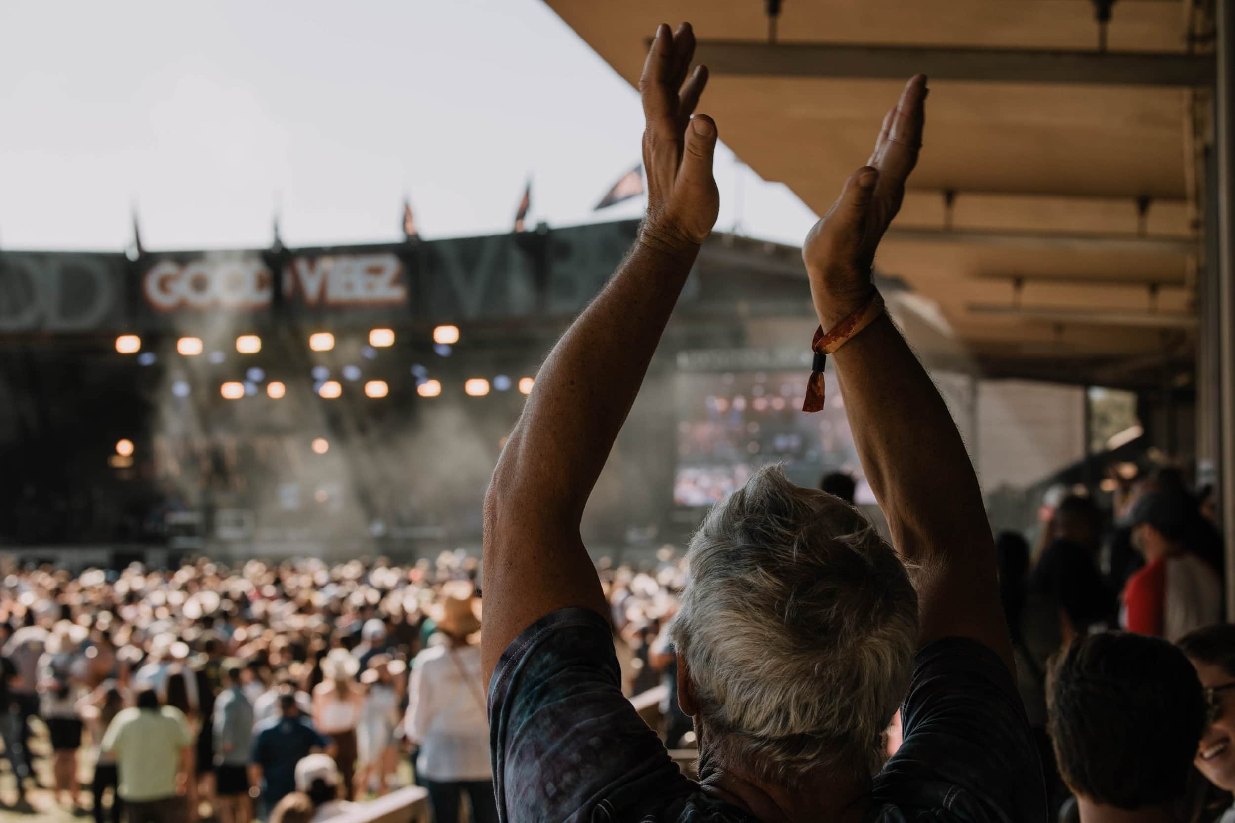
M 748 772 L 700 760 L 704 792 L 748 811 L 763 823 L 826 819 L 857 823 L 869 804 L 871 781 L 827 772 L 810 775 L 798 787 L 771 784 Z

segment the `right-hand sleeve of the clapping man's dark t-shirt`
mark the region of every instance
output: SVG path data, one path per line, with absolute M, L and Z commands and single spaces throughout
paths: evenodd
M 1025 708 L 989 648 L 967 638 L 927 645 L 900 711 L 904 742 L 876 780 L 882 802 L 906 812 L 942 807 L 974 823 L 1046 819 Z

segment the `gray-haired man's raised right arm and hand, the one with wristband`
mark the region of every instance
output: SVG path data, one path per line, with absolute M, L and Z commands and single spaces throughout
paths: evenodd
M 850 176 L 806 237 L 803 259 L 824 329 L 873 294 L 874 250 L 918 162 L 925 100 L 926 78 L 918 75 L 884 118 L 869 165 Z M 920 643 L 969 637 L 1011 668 L 982 494 L 935 384 L 885 315 L 841 347 L 832 363 L 893 545 L 914 568 Z

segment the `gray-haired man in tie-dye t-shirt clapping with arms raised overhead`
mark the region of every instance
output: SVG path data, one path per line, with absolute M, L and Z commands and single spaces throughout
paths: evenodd
M 588 495 L 716 220 L 716 126 L 694 36 L 657 28 L 640 81 L 648 213 L 536 378 L 485 497 L 483 676 L 503 821 L 1045 819 L 994 544 L 956 426 L 871 284 L 921 139 L 926 78 L 888 114 L 803 248 L 824 353 L 888 518 L 761 470 L 690 543 L 672 626 L 699 740 L 684 777 L 622 698 Z M 824 334 L 823 329 L 827 329 Z M 884 763 L 898 707 L 904 743 Z

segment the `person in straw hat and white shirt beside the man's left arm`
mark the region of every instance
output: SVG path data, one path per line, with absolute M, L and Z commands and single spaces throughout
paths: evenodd
M 472 584 L 452 580 L 426 612 L 435 643 L 416 655 L 404 730 L 420 746 L 416 777 L 437 823 L 454 823 L 467 792 L 472 823 L 496 823 L 489 723 L 480 680 L 480 603 Z

